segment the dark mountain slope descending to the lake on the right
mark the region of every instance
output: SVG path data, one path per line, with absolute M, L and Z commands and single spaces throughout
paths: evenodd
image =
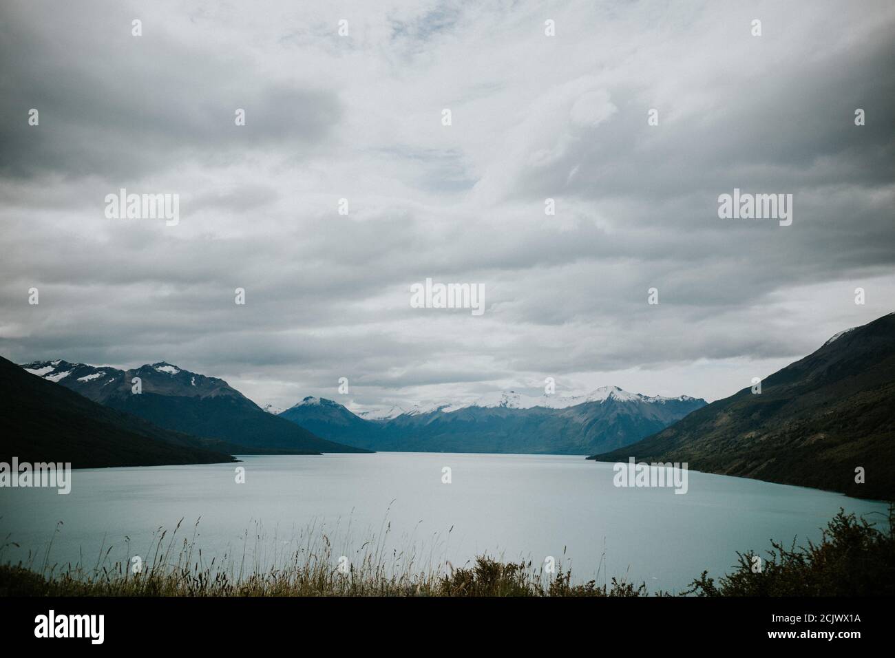
M 895 499 L 895 313 L 840 332 L 765 378 L 760 393 L 740 390 L 589 458 L 629 457 Z

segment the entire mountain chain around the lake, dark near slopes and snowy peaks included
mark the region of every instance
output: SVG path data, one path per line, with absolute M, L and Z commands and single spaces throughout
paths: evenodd
M 765 378 L 760 392 L 742 389 L 709 405 L 603 387 L 579 397 L 510 390 L 362 414 L 309 396 L 280 411 L 171 363 L 123 371 L 63 360 L 18 367 L 2 358 L 0 394 L 10 409 L 0 457 L 136 466 L 264 452 L 589 454 L 895 498 L 895 313 L 836 334 Z

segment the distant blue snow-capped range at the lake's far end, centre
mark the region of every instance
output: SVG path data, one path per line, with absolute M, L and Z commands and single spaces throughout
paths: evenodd
M 329 440 L 374 450 L 587 455 L 643 439 L 704 405 L 694 397 L 603 387 L 580 397 L 503 391 L 468 404 L 394 406 L 368 414 L 305 397 L 279 415 Z

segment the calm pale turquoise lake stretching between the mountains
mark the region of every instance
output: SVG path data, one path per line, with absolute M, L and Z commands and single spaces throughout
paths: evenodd
M 725 573 L 737 551 L 764 555 L 771 539 L 818 540 L 840 507 L 859 515 L 887 509 L 837 493 L 692 471 L 685 495 L 617 488 L 611 464 L 584 457 L 240 458 L 235 465 L 77 470 L 68 495 L 0 489 L 0 543 L 20 544 L 7 546 L 3 560 L 27 560 L 31 551 L 39 567 L 50 539 L 51 564 L 81 560 L 92 568 L 110 546 L 108 560 L 147 560 L 143 551 L 158 529 L 173 530 L 183 517 L 177 536 L 190 539 L 195 531 L 206 563 L 217 557 L 217 564 L 238 567 L 244 551 L 250 568 L 267 568 L 322 531 L 335 555 L 350 560 L 375 536 L 366 551 L 405 551 L 400 560 L 415 552 L 421 568 L 443 560 L 459 566 L 485 552 L 535 565 L 553 556 L 579 582 L 626 577 L 645 581 L 650 592 L 674 592 L 703 569 Z M 235 482 L 236 466 L 245 468 L 245 483 Z M 450 483 L 442 482 L 445 467 Z M 57 521 L 63 525 L 55 532 Z

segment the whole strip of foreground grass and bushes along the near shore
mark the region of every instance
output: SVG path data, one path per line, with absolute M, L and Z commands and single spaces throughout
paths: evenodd
M 179 527 L 179 526 L 178 526 Z M 489 556 L 454 568 L 414 570 L 413 560 L 395 573 L 395 560 L 379 551 L 364 554 L 358 565 L 342 573 L 329 542 L 312 551 L 296 551 L 292 560 L 267 572 L 234 576 L 228 570 L 201 566 L 193 560 L 192 542 L 183 541 L 174 554 L 174 535 L 166 549 L 162 533 L 153 563 L 133 574 L 128 565 L 92 569 L 42 570 L 0 566 L 4 596 L 644 596 L 646 585 L 612 578 L 575 584 L 570 570 L 545 574 L 531 562 L 502 562 Z M 895 507 L 882 531 L 844 510 L 833 517 L 820 543 L 786 548 L 772 542 L 760 571 L 754 553 L 738 553 L 734 570 L 716 583 L 703 572 L 681 594 L 699 596 L 861 596 L 895 594 Z M 164 550 L 163 550 L 164 549 Z M 394 554 L 394 558 L 397 554 Z M 242 571 L 242 569 L 240 569 Z M 668 595 L 657 592 L 656 595 Z

